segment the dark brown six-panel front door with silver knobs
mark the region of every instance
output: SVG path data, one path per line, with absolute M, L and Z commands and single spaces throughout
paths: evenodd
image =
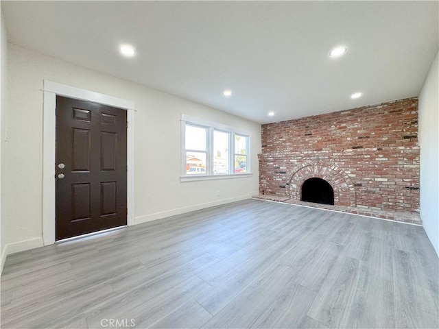
M 126 110 L 56 97 L 56 240 L 126 225 Z

